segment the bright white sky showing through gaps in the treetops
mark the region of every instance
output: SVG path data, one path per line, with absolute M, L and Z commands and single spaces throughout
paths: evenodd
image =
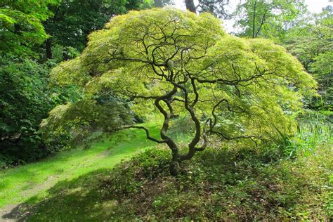
M 240 0 L 230 0 L 230 3 L 227 6 L 227 10 L 233 12 Z M 196 1 L 195 1 L 196 2 Z M 305 0 L 305 3 L 308 5 L 308 11 L 311 13 L 320 13 L 322 8 L 325 6 L 331 5 L 333 6 L 333 1 L 329 0 Z M 184 0 L 174 0 L 174 4 L 176 8 L 185 9 Z M 223 20 L 224 28 L 227 32 L 233 32 L 234 21 L 233 20 Z

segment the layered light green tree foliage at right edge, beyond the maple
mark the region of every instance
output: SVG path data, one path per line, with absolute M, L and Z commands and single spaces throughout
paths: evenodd
M 314 100 L 311 107 L 332 110 L 332 7 L 324 8 L 322 13 L 315 15 L 315 23 L 289 30 L 290 35 L 284 44 L 296 55 L 308 72 L 319 83 L 319 93 L 322 100 Z

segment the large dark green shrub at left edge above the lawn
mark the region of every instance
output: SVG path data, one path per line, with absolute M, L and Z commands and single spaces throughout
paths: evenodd
M 50 61 L 0 57 L 1 166 L 32 162 L 61 150 L 65 138 L 44 144 L 38 133 L 41 119 L 58 103 L 79 97 L 74 86 L 48 88 Z

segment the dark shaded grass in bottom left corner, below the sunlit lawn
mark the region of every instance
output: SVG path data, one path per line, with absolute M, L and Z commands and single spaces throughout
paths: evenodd
M 100 185 L 111 169 L 98 169 L 70 181 L 60 181 L 46 197 L 31 197 L 2 218 L 15 221 L 103 221 L 117 200 L 103 200 Z

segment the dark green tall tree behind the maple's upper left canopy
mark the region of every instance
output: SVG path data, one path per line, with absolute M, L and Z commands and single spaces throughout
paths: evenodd
M 44 22 L 45 30 L 51 36 L 46 41 L 46 57 L 52 58 L 53 43 L 81 51 L 88 34 L 100 30 L 112 16 L 152 5 L 150 0 L 62 0 L 58 6 L 51 7 L 54 15 Z

